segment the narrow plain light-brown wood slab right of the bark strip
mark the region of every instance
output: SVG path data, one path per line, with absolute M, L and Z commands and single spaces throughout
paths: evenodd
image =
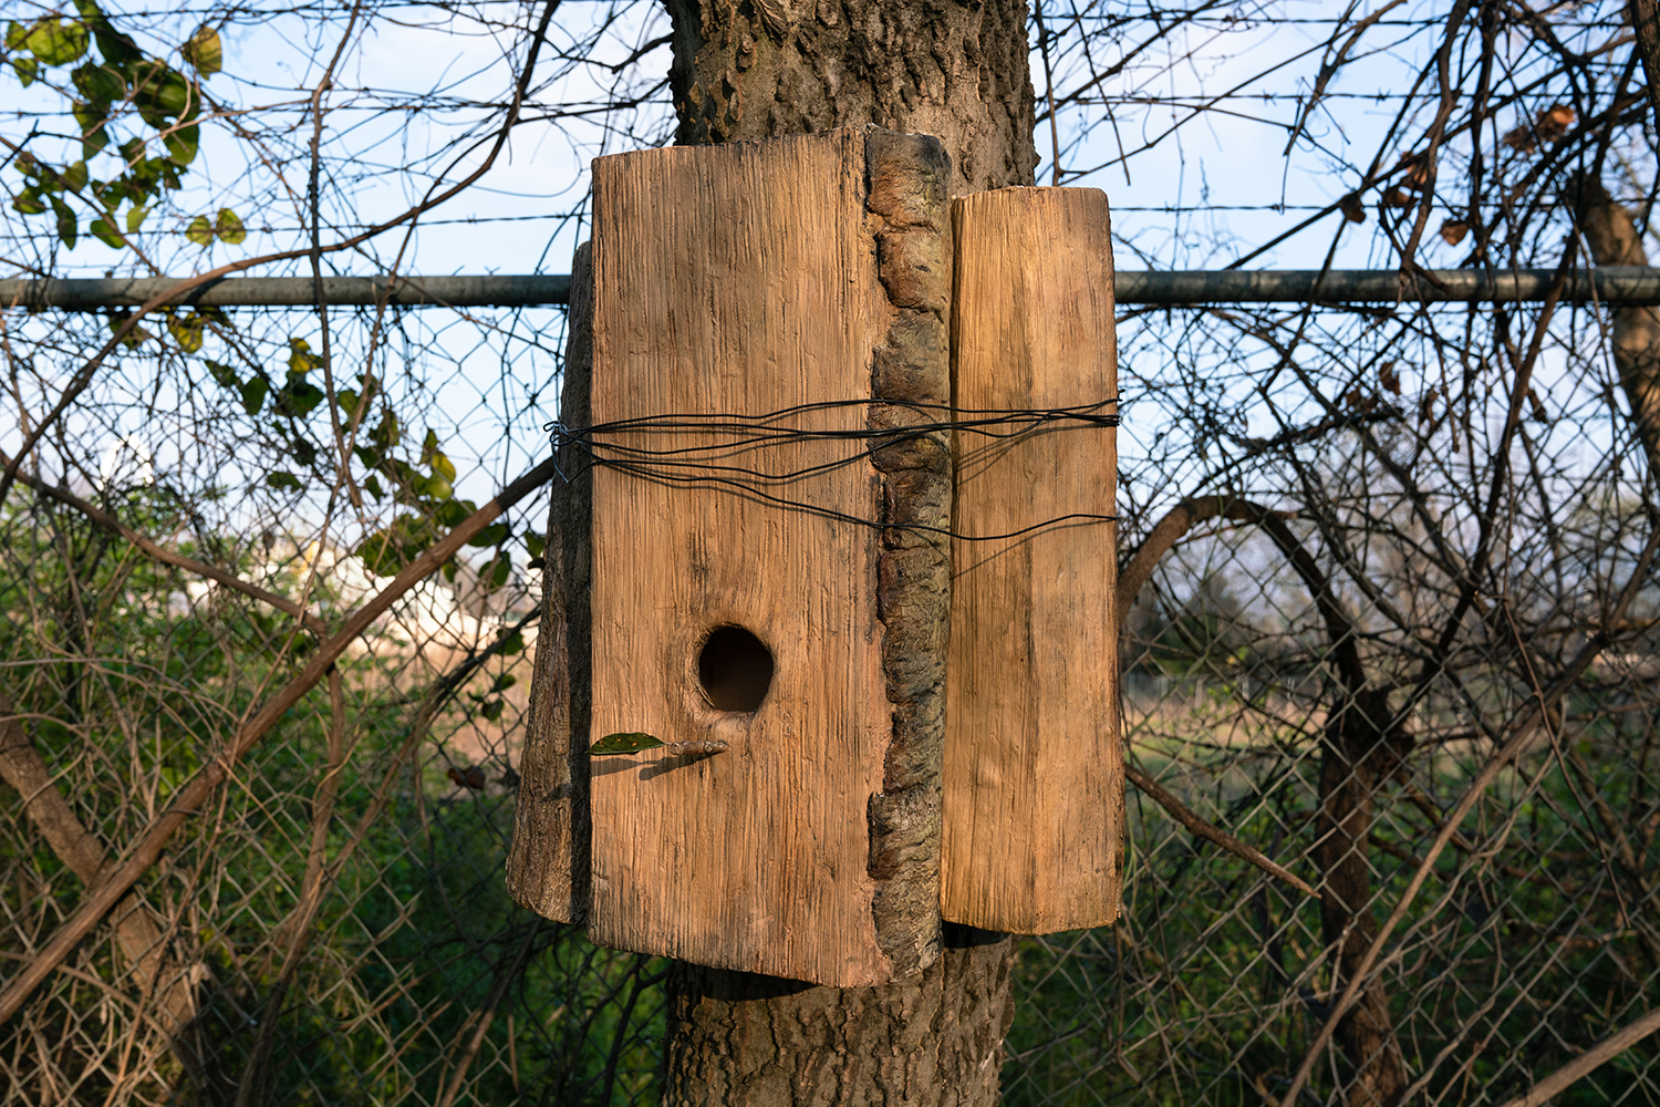
M 954 202 L 959 413 L 1117 395 L 1112 244 L 1097 189 Z M 1114 513 L 1116 432 L 958 432 L 954 531 L 1004 534 Z M 1124 768 L 1116 526 L 956 541 L 946 692 L 941 911 L 1021 934 L 1117 918 Z

